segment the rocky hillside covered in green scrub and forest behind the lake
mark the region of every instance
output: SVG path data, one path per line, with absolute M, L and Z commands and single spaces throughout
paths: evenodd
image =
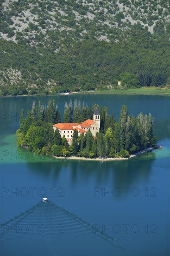
M 170 86 L 169 0 L 1 0 L 0 95 Z

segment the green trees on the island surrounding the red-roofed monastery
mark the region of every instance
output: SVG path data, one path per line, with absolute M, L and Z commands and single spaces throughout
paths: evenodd
M 73 141 L 68 144 L 67 139 L 54 131 L 52 125 L 58 122 L 81 122 L 93 119 L 95 108 L 101 113 L 101 130 L 93 137 L 88 131 L 78 136 L 75 130 Z M 32 150 L 36 155 L 48 156 L 85 156 L 95 157 L 126 157 L 129 154 L 155 145 L 157 138 L 153 134 L 153 118 L 151 114 L 140 113 L 137 118 L 128 115 L 127 107 L 121 107 L 119 120 L 115 121 L 113 114 L 109 115 L 107 107 L 93 104 L 92 108 L 81 104 L 81 101 L 65 103 L 63 120 L 54 100 L 46 106 L 39 101 L 38 106 L 33 102 L 32 109 L 24 116 L 24 109 L 20 113 L 20 126 L 17 130 L 17 144 Z

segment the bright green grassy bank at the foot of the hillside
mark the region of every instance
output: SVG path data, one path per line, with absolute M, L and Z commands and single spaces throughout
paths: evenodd
M 96 90 L 90 92 L 76 92 L 73 94 L 145 94 L 145 95 L 170 95 L 170 89 L 157 87 L 144 87 L 139 89 L 129 88 L 127 90 Z

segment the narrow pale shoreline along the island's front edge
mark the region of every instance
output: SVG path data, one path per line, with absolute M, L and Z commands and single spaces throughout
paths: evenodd
M 107 162 L 107 161 L 124 161 L 124 160 L 129 160 L 133 157 L 136 157 L 136 156 L 139 156 L 139 155 L 142 155 L 146 152 L 150 152 L 152 151 L 153 149 L 156 149 L 155 147 L 149 147 L 149 148 L 145 148 L 144 150 L 141 150 L 133 155 L 130 155 L 128 157 L 115 157 L 115 158 L 87 158 L 87 157 L 80 157 L 80 156 L 68 156 L 68 157 L 64 157 L 64 156 L 55 156 L 53 155 L 52 157 L 53 158 L 56 158 L 56 159 L 60 159 L 60 160 L 85 160 L 85 161 L 99 161 L 99 162 Z

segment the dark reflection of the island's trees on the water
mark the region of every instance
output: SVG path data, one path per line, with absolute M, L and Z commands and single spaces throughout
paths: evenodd
M 28 162 L 27 166 L 36 175 L 52 176 L 55 182 L 60 175 L 64 177 L 67 174 L 72 185 L 76 185 L 77 182 L 88 183 L 93 179 L 95 186 L 109 184 L 120 187 L 147 181 L 155 159 L 156 153 L 149 152 L 128 161 L 94 162 L 54 159 L 52 162 Z

